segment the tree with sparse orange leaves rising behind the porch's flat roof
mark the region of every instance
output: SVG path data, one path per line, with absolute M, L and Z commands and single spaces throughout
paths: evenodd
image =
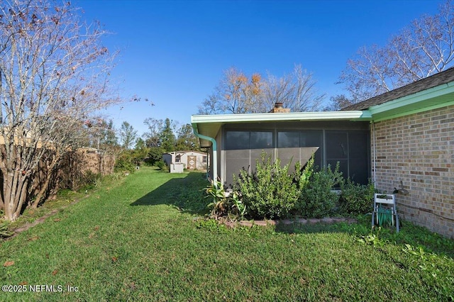
M 319 110 L 324 94 L 317 94 L 316 81 L 311 73 L 295 65 L 284 77 L 258 73 L 248 77 L 236 68 L 224 72 L 214 93 L 199 106 L 199 114 L 265 113 L 282 102 L 292 111 Z

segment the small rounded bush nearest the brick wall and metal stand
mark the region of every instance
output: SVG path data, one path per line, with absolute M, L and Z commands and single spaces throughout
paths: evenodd
M 339 211 L 344 214 L 365 214 L 372 211 L 374 198 L 374 185 L 355 184 L 347 179 L 341 184 L 341 198 L 339 199 Z

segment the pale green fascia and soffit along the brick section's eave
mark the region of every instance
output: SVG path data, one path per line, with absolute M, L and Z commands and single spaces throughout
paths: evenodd
M 451 105 L 454 105 L 454 82 L 371 106 L 367 111 L 372 115 L 372 121 L 378 122 Z

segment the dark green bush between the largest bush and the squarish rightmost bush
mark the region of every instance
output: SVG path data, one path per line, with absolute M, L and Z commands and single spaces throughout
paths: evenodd
M 332 215 L 339 198 L 333 188 L 342 182 L 339 164 L 334 171 L 328 165 L 319 172 L 311 174 L 309 184 L 301 192 L 295 214 L 306 218 L 323 218 Z

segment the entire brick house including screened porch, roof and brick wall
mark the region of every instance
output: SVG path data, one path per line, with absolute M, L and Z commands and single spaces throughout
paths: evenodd
M 192 116 L 209 174 L 231 184 L 262 151 L 283 162 L 341 164 L 345 177 L 395 188 L 400 216 L 454 237 L 454 68 L 342 111 Z M 402 191 L 402 190 L 401 190 Z

